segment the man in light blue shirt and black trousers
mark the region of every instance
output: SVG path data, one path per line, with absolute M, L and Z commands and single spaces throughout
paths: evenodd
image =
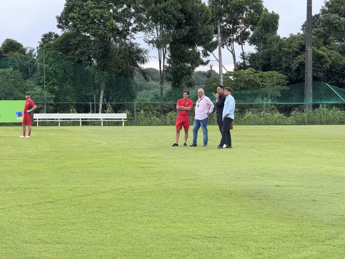
M 221 141 L 219 146 L 216 148 L 223 148 L 224 144 L 227 146 L 224 148 L 232 148 L 231 146 L 231 135 L 230 135 L 230 124 L 234 121 L 235 112 L 235 99 L 231 96 L 233 89 L 230 87 L 224 88 L 224 95 L 226 96 L 224 109 L 223 109 L 223 128 L 221 129 Z

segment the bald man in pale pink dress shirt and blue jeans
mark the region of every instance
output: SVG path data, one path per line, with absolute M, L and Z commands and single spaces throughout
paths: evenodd
M 204 89 L 198 90 L 198 100 L 195 106 L 195 117 L 193 124 L 193 144 L 190 146 L 196 146 L 198 138 L 198 130 L 201 127 L 204 134 L 204 146 L 207 146 L 208 132 L 207 132 L 207 121 L 210 114 L 213 112 L 214 104 L 210 98 L 205 96 Z

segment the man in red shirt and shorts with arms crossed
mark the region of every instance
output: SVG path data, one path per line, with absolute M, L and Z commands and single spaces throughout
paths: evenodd
M 187 146 L 188 130 L 190 124 L 189 111 L 193 107 L 193 102 L 188 99 L 189 91 L 183 92 L 183 99 L 179 99 L 176 104 L 176 109 L 178 110 L 178 115 L 176 119 L 176 137 L 175 144 L 172 146 L 178 146 L 178 138 L 180 137 L 180 131 L 182 126 L 185 129 L 185 143 L 184 146 Z

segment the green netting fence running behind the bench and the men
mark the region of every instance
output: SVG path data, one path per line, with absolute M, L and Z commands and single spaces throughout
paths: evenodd
M 304 84 L 235 90 L 234 123 L 345 124 L 345 90 L 319 82 L 312 88 L 309 105 Z M 127 125 L 173 125 L 183 89 L 165 88 L 161 99 L 159 87 L 68 61 L 56 52 L 0 57 L 0 100 L 22 100 L 26 92 L 37 104 L 37 113 L 126 112 Z M 205 94 L 215 101 L 215 93 Z M 191 90 L 190 99 L 196 102 L 196 90 Z M 209 123 L 216 124 L 215 114 Z

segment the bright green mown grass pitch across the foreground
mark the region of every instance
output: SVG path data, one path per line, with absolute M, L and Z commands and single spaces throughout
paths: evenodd
M 235 126 L 224 150 L 217 126 L 206 148 L 174 126 L 20 134 L 0 127 L 0 258 L 344 258 L 344 126 Z

